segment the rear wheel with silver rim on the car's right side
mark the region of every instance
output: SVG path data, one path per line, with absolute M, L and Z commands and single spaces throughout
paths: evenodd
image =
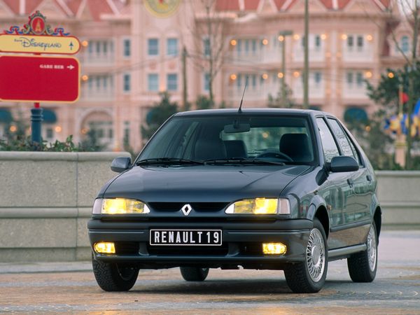
M 366 250 L 347 258 L 347 267 L 353 282 L 372 282 L 378 267 L 378 237 L 374 222 L 370 225 L 366 240 Z

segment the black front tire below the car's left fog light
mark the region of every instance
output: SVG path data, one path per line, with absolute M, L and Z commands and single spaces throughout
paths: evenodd
M 137 281 L 139 268 L 121 266 L 92 258 L 94 278 L 104 291 L 128 291 Z

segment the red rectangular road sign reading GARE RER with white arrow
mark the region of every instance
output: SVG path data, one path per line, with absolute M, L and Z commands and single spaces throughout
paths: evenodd
M 0 101 L 76 102 L 80 66 L 74 57 L 0 56 Z

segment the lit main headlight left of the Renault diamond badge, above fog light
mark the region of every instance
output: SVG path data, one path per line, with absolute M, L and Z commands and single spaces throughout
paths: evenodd
M 144 202 L 132 199 L 97 199 L 92 214 L 148 214 L 151 210 Z

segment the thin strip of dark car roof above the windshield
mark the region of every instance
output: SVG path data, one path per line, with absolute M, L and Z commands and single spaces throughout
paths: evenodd
M 200 109 L 197 111 L 183 111 L 176 113 L 174 116 L 230 116 L 237 115 L 238 109 Z M 264 115 L 264 114 L 276 114 L 276 115 L 297 115 L 297 116 L 332 116 L 330 113 L 323 111 L 316 111 L 313 109 L 242 109 L 242 115 Z

